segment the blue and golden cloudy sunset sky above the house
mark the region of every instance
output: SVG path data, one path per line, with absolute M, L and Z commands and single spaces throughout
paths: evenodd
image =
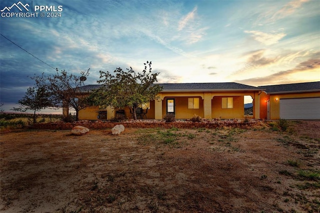
M 0 1 L 0 102 L 6 111 L 34 84 L 30 76 L 55 68 L 74 74 L 90 68 L 85 84 L 96 84 L 99 70 L 141 71 L 147 60 L 160 73 L 159 83 L 320 80 L 320 0 L 18 2 Z

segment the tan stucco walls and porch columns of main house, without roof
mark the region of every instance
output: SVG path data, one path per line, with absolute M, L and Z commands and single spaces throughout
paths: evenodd
M 147 119 L 162 119 L 166 114 L 166 99 L 174 98 L 175 118 L 189 119 L 194 114 L 206 118 L 244 118 L 244 95 L 253 98 L 253 118 L 259 115 L 257 91 L 195 91 L 195 92 L 160 92 L 158 100 L 150 101 L 150 107 L 146 114 Z M 233 108 L 222 109 L 221 97 L 233 97 Z M 199 108 L 189 109 L 188 98 L 198 97 Z M 213 98 L 213 99 L 212 99 Z M 79 119 L 97 120 L 98 107 L 88 107 L 79 111 Z M 257 112 L 257 113 L 256 113 Z M 131 118 L 128 107 L 124 108 L 125 118 Z M 257 116 L 256 116 L 257 114 Z M 107 108 L 107 119 L 115 116 L 115 110 Z

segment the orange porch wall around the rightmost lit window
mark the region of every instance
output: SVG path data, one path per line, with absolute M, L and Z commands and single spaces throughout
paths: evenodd
M 212 118 L 244 118 L 244 96 L 232 96 L 233 108 L 222 108 L 222 97 L 214 96 L 211 100 Z

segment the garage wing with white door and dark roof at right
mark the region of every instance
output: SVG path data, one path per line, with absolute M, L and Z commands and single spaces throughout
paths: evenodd
M 320 119 L 320 81 L 258 86 L 260 118 Z

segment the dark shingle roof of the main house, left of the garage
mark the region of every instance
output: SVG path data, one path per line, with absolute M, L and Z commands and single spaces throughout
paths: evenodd
M 261 90 L 255 86 L 249 86 L 241 83 L 224 82 L 224 83 L 156 83 L 163 87 L 162 91 L 221 91 L 221 90 Z M 99 88 L 99 84 L 81 86 L 80 92 L 89 92 Z

